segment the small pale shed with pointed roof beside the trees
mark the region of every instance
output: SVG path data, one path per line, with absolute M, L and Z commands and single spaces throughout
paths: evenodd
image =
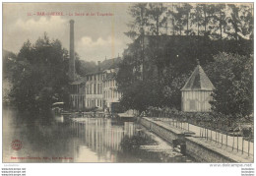
M 184 112 L 211 111 L 213 92 L 212 82 L 209 80 L 200 65 L 197 65 L 185 86 L 181 88 L 181 109 Z

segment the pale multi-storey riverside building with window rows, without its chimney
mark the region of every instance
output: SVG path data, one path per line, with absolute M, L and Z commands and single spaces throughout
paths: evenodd
M 121 58 L 113 58 L 98 62 L 96 72 L 86 76 L 85 108 L 97 110 L 110 108 L 111 103 L 119 102 L 121 93 L 117 92 L 115 76 Z

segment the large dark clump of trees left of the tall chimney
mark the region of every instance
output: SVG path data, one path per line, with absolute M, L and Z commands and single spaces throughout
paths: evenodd
M 50 40 L 44 33 L 34 44 L 25 42 L 12 70 L 13 103 L 22 110 L 43 112 L 53 102 L 67 100 L 67 71 L 67 50 L 58 39 Z

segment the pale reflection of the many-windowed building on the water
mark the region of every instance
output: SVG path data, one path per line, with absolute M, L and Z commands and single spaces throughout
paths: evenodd
M 81 146 L 92 148 L 98 155 L 121 150 L 124 136 L 132 138 L 136 135 L 136 127 L 132 122 L 125 122 L 124 126 L 111 124 L 111 120 L 102 118 L 85 118 L 83 123 L 73 122 L 76 136 L 81 140 Z

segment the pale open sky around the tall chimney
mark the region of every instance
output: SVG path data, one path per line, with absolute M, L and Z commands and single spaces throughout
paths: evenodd
M 131 42 L 124 34 L 129 30 L 127 24 L 132 21 L 128 15 L 130 5 L 3 3 L 3 49 L 18 53 L 24 42 L 30 39 L 34 43 L 45 31 L 50 39 L 59 39 L 69 50 L 69 21 L 74 20 L 75 50 L 82 60 L 103 61 L 105 57 L 121 56 Z

